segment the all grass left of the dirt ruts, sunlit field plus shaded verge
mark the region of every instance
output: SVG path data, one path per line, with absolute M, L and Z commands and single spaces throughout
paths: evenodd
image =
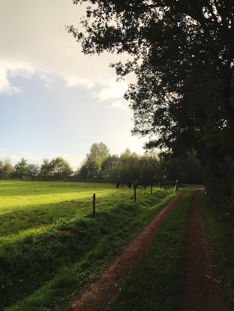
M 173 196 L 137 189 L 134 202 L 133 188 L 113 184 L 0 181 L 0 310 L 62 305 Z

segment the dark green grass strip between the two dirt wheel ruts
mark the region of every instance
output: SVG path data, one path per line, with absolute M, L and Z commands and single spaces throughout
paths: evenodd
M 108 311 L 180 310 L 183 254 L 194 191 L 183 196 L 155 235 L 147 254 L 130 276 Z

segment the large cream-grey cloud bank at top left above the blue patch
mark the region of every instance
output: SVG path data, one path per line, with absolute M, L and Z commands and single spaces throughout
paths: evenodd
M 91 88 L 97 83 L 116 83 L 115 70 L 109 67 L 115 56 L 84 55 L 81 45 L 65 29 L 71 24 L 81 27 L 79 18 L 85 15 L 86 4 L 78 6 L 70 0 L 0 0 L 0 6 L 0 28 L 5 29 L 0 40 L 0 62 L 4 63 L 1 91 L 17 91 L 7 77 L 9 70 L 17 69 L 21 74 L 29 69 L 54 73 L 63 77 L 68 86 Z

